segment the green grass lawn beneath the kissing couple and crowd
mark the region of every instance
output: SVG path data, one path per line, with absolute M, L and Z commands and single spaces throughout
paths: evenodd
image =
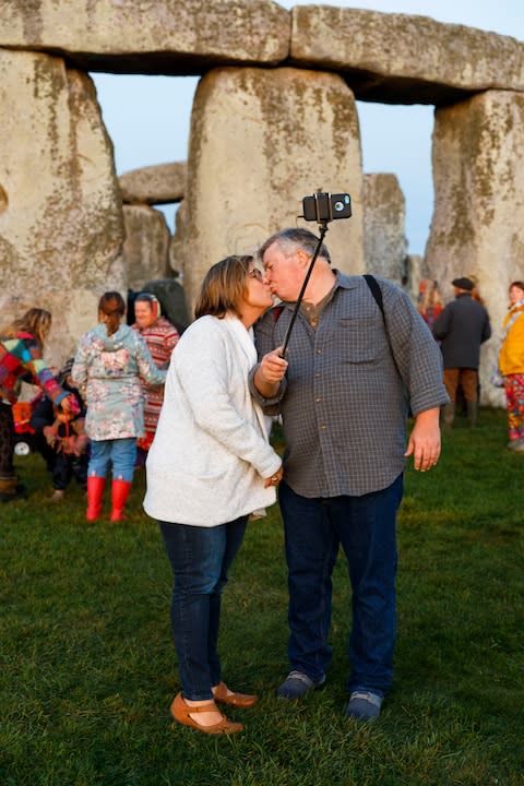
M 170 570 L 141 510 L 84 521 L 71 486 L 51 503 L 37 456 L 31 497 L 0 507 L 1 786 L 517 786 L 524 784 L 524 455 L 505 416 L 461 419 L 439 466 L 406 473 L 398 520 L 395 681 L 381 717 L 345 719 L 349 590 L 335 567 L 326 687 L 275 698 L 287 672 L 277 508 L 250 525 L 224 603 L 224 676 L 255 690 L 233 738 L 174 725 L 179 689 Z M 176 489 L 174 489 L 176 493 Z

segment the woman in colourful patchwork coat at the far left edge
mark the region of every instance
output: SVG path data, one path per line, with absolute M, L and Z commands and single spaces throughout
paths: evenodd
M 66 412 L 78 414 L 80 407 L 70 393 L 58 384 L 43 360 L 44 344 L 51 330 L 51 314 L 32 308 L 23 317 L 0 330 L 0 500 L 10 502 L 23 497 L 24 487 L 14 474 L 14 422 L 11 405 L 19 397 L 22 380 L 29 381 Z

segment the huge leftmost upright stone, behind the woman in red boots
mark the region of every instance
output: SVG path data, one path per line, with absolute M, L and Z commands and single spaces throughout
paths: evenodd
M 0 308 L 48 308 L 59 365 L 99 295 L 126 290 L 112 145 L 91 79 L 47 55 L 0 50 Z

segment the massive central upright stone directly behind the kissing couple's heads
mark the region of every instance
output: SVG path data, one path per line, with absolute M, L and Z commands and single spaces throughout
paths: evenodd
M 335 266 L 362 272 L 359 131 L 344 81 L 295 69 L 206 74 L 193 105 L 172 250 L 183 265 L 190 312 L 214 262 L 254 251 L 272 233 L 295 226 L 302 198 L 319 187 L 350 193 L 354 216 L 333 222 L 326 243 Z

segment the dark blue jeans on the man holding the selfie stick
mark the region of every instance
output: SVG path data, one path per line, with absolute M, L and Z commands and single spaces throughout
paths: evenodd
M 331 663 L 331 574 L 338 543 L 353 590 L 349 691 L 384 695 L 393 678 L 396 634 L 396 512 L 402 475 L 362 497 L 307 499 L 281 484 L 289 588 L 291 668 L 321 681 Z

